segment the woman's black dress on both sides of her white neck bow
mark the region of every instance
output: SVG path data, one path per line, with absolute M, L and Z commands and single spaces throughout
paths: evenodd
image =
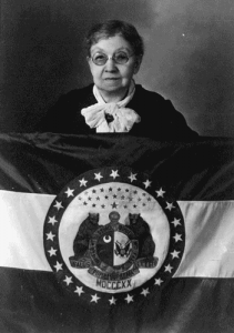
M 67 134 L 95 134 L 81 114 L 83 108 L 96 103 L 93 84 L 75 89 L 62 95 L 38 127 L 39 132 Z M 129 134 L 156 140 L 193 140 L 199 134 L 187 124 L 184 117 L 174 109 L 171 101 L 156 92 L 135 85 L 133 99 L 125 108 L 133 109 L 141 117 Z

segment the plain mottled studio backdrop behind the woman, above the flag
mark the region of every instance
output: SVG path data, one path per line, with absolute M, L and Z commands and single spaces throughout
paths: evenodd
M 234 137 L 233 0 L 1 0 L 0 131 L 33 131 L 59 95 L 91 82 L 92 23 L 133 23 L 136 82 L 172 100 L 202 135 Z

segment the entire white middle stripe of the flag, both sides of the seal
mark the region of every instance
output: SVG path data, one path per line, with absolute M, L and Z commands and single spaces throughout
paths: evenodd
M 0 191 L 0 266 L 51 271 L 43 223 L 55 195 Z M 185 251 L 174 278 L 234 276 L 234 201 L 177 201 Z

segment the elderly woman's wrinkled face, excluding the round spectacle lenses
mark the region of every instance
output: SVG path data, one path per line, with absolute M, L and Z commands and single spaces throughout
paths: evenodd
M 129 57 L 129 61 L 123 64 L 116 63 L 112 58 L 118 52 L 123 51 Z M 98 65 L 93 63 L 92 57 L 95 53 L 104 53 L 108 56 L 108 61 Z M 120 34 L 108 39 L 100 39 L 98 43 L 90 49 L 91 58 L 88 59 L 90 70 L 93 77 L 93 82 L 105 98 L 108 95 L 120 95 L 123 98 L 130 87 L 132 77 L 139 71 L 141 59 L 133 54 L 131 44 Z

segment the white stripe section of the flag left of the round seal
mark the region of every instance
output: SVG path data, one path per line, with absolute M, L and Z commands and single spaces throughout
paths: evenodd
M 0 191 L 0 266 L 51 271 L 43 223 L 54 195 Z

